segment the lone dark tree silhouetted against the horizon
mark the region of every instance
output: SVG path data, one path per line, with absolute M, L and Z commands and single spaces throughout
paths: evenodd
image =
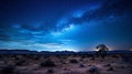
M 96 46 L 96 49 L 98 50 L 98 51 L 96 52 L 96 55 L 97 55 L 97 56 L 101 56 L 102 59 L 106 57 L 107 51 L 109 51 L 109 49 L 108 49 L 105 44 L 98 44 L 98 45 Z

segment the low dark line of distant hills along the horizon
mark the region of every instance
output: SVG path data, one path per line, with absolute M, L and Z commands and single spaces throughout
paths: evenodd
M 95 54 L 96 51 L 74 52 L 74 51 L 30 51 L 30 50 L 0 50 L 0 54 Z M 132 54 L 132 51 L 108 51 L 108 54 Z

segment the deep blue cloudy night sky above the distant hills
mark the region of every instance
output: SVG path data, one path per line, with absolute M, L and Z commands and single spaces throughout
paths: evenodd
M 0 49 L 132 50 L 131 0 L 0 0 Z

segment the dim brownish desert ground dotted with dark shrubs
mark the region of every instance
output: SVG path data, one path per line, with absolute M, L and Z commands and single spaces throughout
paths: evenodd
M 1 54 L 0 74 L 132 74 L 132 54 Z

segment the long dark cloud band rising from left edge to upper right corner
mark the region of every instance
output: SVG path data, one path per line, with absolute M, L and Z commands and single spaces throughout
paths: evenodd
M 106 0 L 103 3 L 100 3 L 98 8 L 91 10 L 92 7 L 94 6 L 89 6 L 89 10 L 86 11 L 80 10 L 79 17 L 75 17 L 75 14 L 77 14 L 76 11 L 73 12 L 73 15 L 64 15 L 57 23 L 55 21 L 25 24 L 0 23 L 0 29 L 2 30 L 0 30 L 0 40 L 42 39 L 51 32 L 58 31 L 59 33 L 59 31 L 70 28 L 73 23 L 74 25 L 78 25 L 90 21 L 102 21 L 107 18 L 129 17 L 132 13 L 130 0 Z

